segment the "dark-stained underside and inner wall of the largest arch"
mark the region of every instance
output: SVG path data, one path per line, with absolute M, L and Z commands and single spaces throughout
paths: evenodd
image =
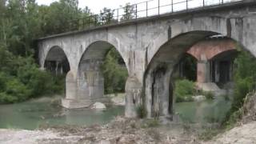
M 146 68 L 143 78 L 144 106 L 148 117 L 171 116 L 174 104 L 172 74 L 183 54 L 197 42 L 218 35 L 218 32 L 195 30 L 178 34 L 165 42 Z M 240 44 L 240 43 L 238 43 Z M 240 44 L 242 47 L 242 42 Z M 246 49 L 248 50 L 248 49 Z M 229 51 L 229 50 L 226 50 Z M 206 58 L 201 58 L 201 61 Z

